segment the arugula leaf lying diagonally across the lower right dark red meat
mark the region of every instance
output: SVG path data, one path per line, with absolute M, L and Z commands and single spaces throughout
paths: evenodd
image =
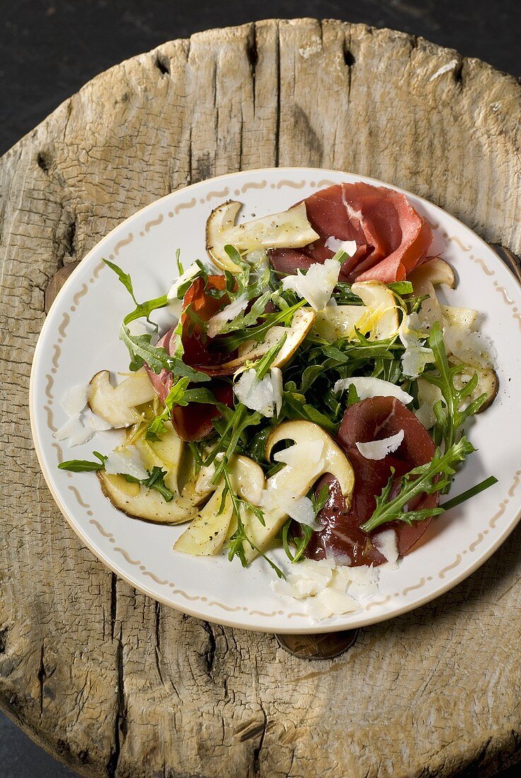
M 372 517 L 360 528 L 369 534 L 376 527 L 389 521 L 404 521 L 405 524 L 412 524 L 413 521 L 422 521 L 443 513 L 445 509 L 442 507 L 422 510 L 404 509 L 415 497 L 441 492 L 449 486 L 456 472 L 456 465 L 463 462 L 473 451 L 475 451 L 474 446 L 464 437 L 459 443 L 454 443 L 444 454 L 437 448 L 430 462 L 421 464 L 402 476 L 400 492 L 393 499 L 390 499 L 394 480 L 394 468 L 391 468 L 389 481 L 382 493 L 376 497 L 376 509 Z

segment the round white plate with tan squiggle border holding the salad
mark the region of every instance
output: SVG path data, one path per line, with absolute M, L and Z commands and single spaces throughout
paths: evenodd
M 428 541 L 405 557 L 399 569 L 383 572 L 379 595 L 362 611 L 313 622 L 297 601 L 271 591 L 274 573 L 262 560 L 245 570 L 238 560 L 230 563 L 224 555 L 198 559 L 175 553 L 172 545 L 181 527 L 128 518 L 103 497 L 93 474 L 57 469 L 64 458 L 92 458 L 93 449 L 114 447 L 115 433 L 98 433 L 72 450 L 53 437 L 54 429 L 66 420 L 59 401 L 68 387 L 88 381 L 103 368 L 128 369 L 128 354 L 117 333 L 131 300 L 102 258 L 129 272 L 138 299 L 147 300 L 163 294 L 177 275 L 177 247 L 185 266 L 205 256 L 205 222 L 219 202 L 240 199 L 245 204 L 243 216 L 249 219 L 281 211 L 330 184 L 359 180 L 380 183 L 333 170 L 281 168 L 232 173 L 174 192 L 103 238 L 72 274 L 47 316 L 33 361 L 30 417 L 49 489 L 99 559 L 166 605 L 208 621 L 267 632 L 320 633 L 364 626 L 409 611 L 453 587 L 498 548 L 519 520 L 521 289 L 483 240 L 453 216 L 408 192 L 432 225 L 433 248 L 453 264 L 459 277 L 449 302 L 483 311 L 482 331 L 497 352 L 498 398 L 470 430 L 479 450 L 457 475 L 452 495 L 488 475 L 499 482 L 433 521 Z M 166 322 L 163 317 L 165 328 Z M 283 553 L 274 558 L 285 565 Z

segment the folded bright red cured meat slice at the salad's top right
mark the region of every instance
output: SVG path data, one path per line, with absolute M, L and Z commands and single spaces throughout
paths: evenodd
M 386 187 L 335 184 L 304 200 L 309 223 L 320 239 L 302 249 L 270 252 L 271 265 L 282 273 L 309 268 L 334 255 L 329 237 L 355 240 L 357 251 L 341 267 L 345 282 L 403 281 L 425 260 L 432 232 L 404 195 Z

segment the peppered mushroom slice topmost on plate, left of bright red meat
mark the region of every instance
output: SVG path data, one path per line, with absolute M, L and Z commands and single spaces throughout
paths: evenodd
M 255 251 L 262 248 L 300 248 L 318 240 L 319 235 L 309 224 L 306 204 L 261 219 L 236 224 L 236 216 L 242 203 L 228 200 L 215 208 L 206 223 L 206 249 L 215 265 L 222 270 L 240 272 L 225 246 L 238 251 Z

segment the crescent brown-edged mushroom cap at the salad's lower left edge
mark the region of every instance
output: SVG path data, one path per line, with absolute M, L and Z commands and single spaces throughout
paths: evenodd
M 103 494 L 117 510 L 127 516 L 154 524 L 180 524 L 197 514 L 197 506 L 174 497 L 170 503 L 156 491 L 136 483 L 128 483 L 123 475 L 109 475 L 100 470 L 96 473 Z M 137 487 L 137 491 L 136 491 Z

